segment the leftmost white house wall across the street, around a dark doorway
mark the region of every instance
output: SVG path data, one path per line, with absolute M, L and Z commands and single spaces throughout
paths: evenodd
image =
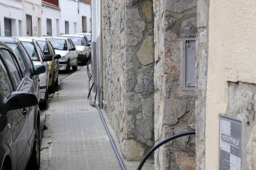
M 15 0 L 0 0 L 0 35 L 4 34 L 4 18 L 11 19 L 12 36 L 20 36 L 19 21 L 23 21 L 23 4 Z

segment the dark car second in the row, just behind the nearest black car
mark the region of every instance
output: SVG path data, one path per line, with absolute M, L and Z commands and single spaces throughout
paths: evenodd
M 21 68 L 24 70 L 25 74 L 33 80 L 35 87 L 35 96 L 40 101 L 40 85 L 39 85 L 39 75 L 34 74 L 35 68 L 34 63 L 29 57 L 25 47 L 17 38 L 12 37 L 0 37 L 0 41 L 6 43 L 18 57 L 18 60 L 21 64 Z

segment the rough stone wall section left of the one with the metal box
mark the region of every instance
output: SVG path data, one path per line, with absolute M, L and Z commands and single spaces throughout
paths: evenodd
M 103 0 L 103 104 L 127 160 L 154 146 L 151 0 Z

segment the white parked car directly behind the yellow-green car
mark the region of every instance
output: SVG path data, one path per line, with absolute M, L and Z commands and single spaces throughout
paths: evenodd
M 72 66 L 72 70 L 77 70 L 78 61 L 77 61 L 77 49 L 75 44 L 70 38 L 66 37 L 44 37 L 47 38 L 55 52 L 60 54 L 61 58 L 59 60 L 60 70 L 65 70 L 66 73 L 70 72 L 70 67 Z

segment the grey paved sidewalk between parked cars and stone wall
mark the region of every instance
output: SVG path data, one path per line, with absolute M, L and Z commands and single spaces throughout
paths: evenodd
M 40 170 L 120 170 L 100 115 L 87 100 L 87 84 L 86 66 L 79 66 L 41 111 Z M 102 114 L 120 154 L 118 138 L 103 110 Z M 127 170 L 136 170 L 139 164 L 123 162 Z M 154 160 L 148 160 L 143 170 L 154 170 Z

